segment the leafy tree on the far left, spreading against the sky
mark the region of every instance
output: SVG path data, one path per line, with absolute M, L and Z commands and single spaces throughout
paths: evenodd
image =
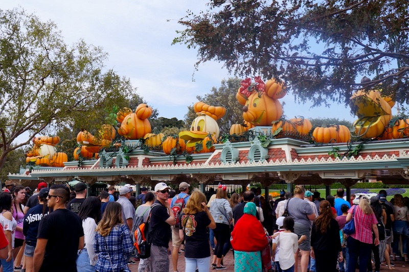
M 8 154 L 41 133 L 102 124 L 124 106 L 128 79 L 102 72 L 106 53 L 80 40 L 67 46 L 52 22 L 0 10 L 0 169 Z M 13 144 L 21 134 L 27 141 Z

